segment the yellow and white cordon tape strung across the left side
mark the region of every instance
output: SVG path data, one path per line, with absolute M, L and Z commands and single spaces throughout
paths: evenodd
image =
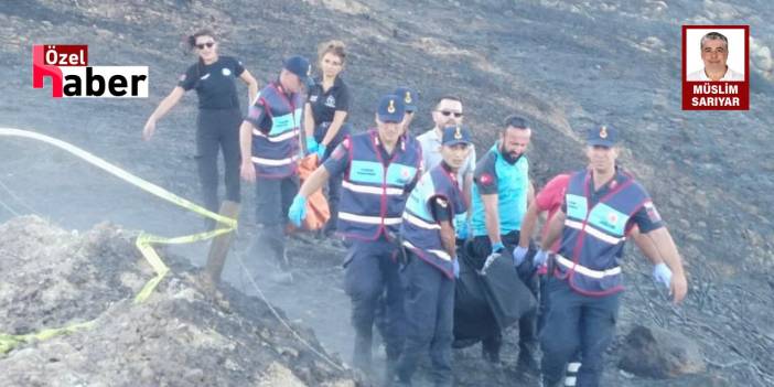
M 62 140 L 57 140 L 53 137 L 49 137 L 45 135 L 36 133 L 34 131 L 29 131 L 29 130 L 22 130 L 22 129 L 15 129 L 15 128 L 0 128 L 0 136 L 9 136 L 9 137 L 22 137 L 22 138 L 29 138 L 37 141 L 43 141 L 49 144 L 52 144 L 54 147 L 61 148 L 69 153 L 75 154 L 76 157 L 85 160 L 86 162 L 100 168 L 112 175 L 117 176 L 118 179 L 121 179 L 126 181 L 127 183 L 130 183 L 132 185 L 136 185 L 140 187 L 143 191 L 147 191 L 155 196 L 159 196 L 168 202 L 171 202 L 175 205 L 179 205 L 183 208 L 186 208 L 189 211 L 192 211 L 198 215 L 202 215 L 204 217 L 208 217 L 211 219 L 214 219 L 218 222 L 218 225 L 221 228 L 211 230 L 211 232 L 205 232 L 205 233 L 198 233 L 198 234 L 193 234 L 193 235 L 185 235 L 185 236 L 180 236 L 180 237 L 174 237 L 174 238 L 165 238 L 165 237 L 160 237 L 151 234 L 146 234 L 146 233 L 140 233 L 140 235 L 137 237 L 137 240 L 135 241 L 135 245 L 137 245 L 137 248 L 140 250 L 142 256 L 146 258 L 148 264 L 153 268 L 153 271 L 155 271 L 155 277 L 153 277 L 148 283 L 146 283 L 144 287 L 142 287 L 142 290 L 140 290 L 139 293 L 135 297 L 135 302 L 142 302 L 148 299 L 148 297 L 153 292 L 155 287 L 161 282 L 161 280 L 164 278 L 166 272 L 170 271 L 170 268 L 164 265 L 164 261 L 161 260 L 161 257 L 155 252 L 153 249 L 152 245 L 155 244 L 164 244 L 164 245 L 180 245 L 180 244 L 190 244 L 198 240 L 206 240 L 214 238 L 218 235 L 230 233 L 237 227 L 237 221 L 230 217 L 222 216 L 221 214 L 213 213 L 189 200 L 185 200 L 183 197 L 180 197 L 155 184 L 152 184 L 150 182 L 147 182 L 127 171 L 123 171 L 122 169 L 110 164 L 109 162 L 78 148 L 73 144 L 69 144 L 67 142 L 64 142 Z M 37 333 L 30 333 L 30 334 L 23 334 L 23 335 L 8 335 L 8 334 L 2 334 L 0 333 L 0 353 L 4 354 L 8 353 L 9 351 L 13 350 L 17 345 L 28 342 L 30 340 L 46 340 L 51 338 L 53 336 L 60 335 L 60 334 L 66 334 L 74 332 L 76 330 L 80 329 L 86 329 L 86 327 L 92 327 L 94 326 L 94 320 L 93 321 L 87 321 L 83 323 L 76 323 L 72 324 L 65 327 L 56 327 L 56 329 L 47 329 L 43 330 Z

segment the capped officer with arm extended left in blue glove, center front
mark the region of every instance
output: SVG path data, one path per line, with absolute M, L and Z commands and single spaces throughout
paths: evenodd
M 397 235 L 408 193 L 421 171 L 421 150 L 404 141 L 402 98 L 379 100 L 376 130 L 342 141 L 331 157 L 303 183 L 288 216 L 300 224 L 307 197 L 331 176 L 343 175 L 337 230 L 351 243 L 344 262 L 345 291 L 352 299 L 355 327 L 354 365 L 370 372 L 372 327 L 377 299 L 387 290 L 387 351 L 391 369 L 402 346 L 404 294 L 398 278 Z

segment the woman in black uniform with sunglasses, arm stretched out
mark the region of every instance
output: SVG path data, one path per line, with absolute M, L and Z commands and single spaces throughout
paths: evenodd
M 155 131 L 155 122 L 178 105 L 183 94 L 196 89 L 198 117 L 196 119 L 196 166 L 202 184 L 204 205 L 217 213 L 217 153 L 223 150 L 225 161 L 226 198 L 239 202 L 239 125 L 243 115 L 234 79 L 239 77 L 248 88 L 248 104 L 258 94 L 258 83 L 245 69 L 241 62 L 232 56 L 218 55 L 215 34 L 201 30 L 189 36 L 189 45 L 196 49 L 198 61 L 180 76 L 172 89 L 153 114 L 148 117 L 142 130 L 147 141 Z

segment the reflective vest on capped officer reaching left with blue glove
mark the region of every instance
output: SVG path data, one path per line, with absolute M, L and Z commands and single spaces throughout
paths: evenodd
M 350 138 L 350 168 L 342 181 L 338 230 L 342 235 L 376 240 L 387 232 L 397 234 L 408 197 L 422 161 L 416 141 L 399 141 L 391 159 L 381 159 L 376 130 Z

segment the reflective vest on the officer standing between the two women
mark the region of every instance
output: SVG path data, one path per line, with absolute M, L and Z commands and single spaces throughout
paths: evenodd
M 252 162 L 256 174 L 265 178 L 284 178 L 294 174 L 299 160 L 299 132 L 303 100 L 298 93 L 291 98 L 281 86 L 271 83 L 258 94 L 258 103 L 271 118 L 271 128 L 252 129 Z

